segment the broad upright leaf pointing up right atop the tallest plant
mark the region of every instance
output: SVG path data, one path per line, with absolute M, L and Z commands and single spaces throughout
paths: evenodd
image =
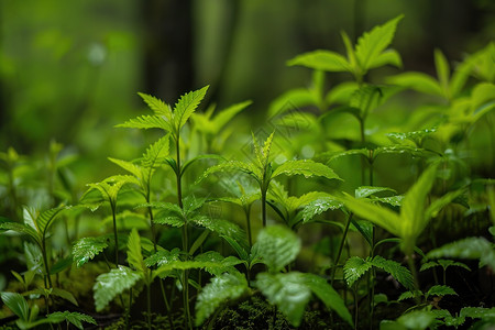
M 355 56 L 364 73 L 372 67 L 372 64 L 378 62 L 381 53 L 392 43 L 397 23 L 403 18 L 404 15 L 399 15 L 383 25 L 375 26 L 358 38 Z

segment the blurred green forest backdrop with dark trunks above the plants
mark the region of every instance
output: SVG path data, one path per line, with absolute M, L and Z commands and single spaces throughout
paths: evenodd
M 220 108 L 254 101 L 242 114 L 249 132 L 274 98 L 309 84 L 287 59 L 343 52 L 340 31 L 355 38 L 399 13 L 406 70 L 433 74 L 436 47 L 460 61 L 495 38 L 491 0 L 2 0 L 0 151 L 43 155 L 55 139 L 85 160 L 89 182 L 107 156 L 141 153 L 142 134 L 113 129 L 144 112 L 138 91 L 173 103 L 205 85 Z

